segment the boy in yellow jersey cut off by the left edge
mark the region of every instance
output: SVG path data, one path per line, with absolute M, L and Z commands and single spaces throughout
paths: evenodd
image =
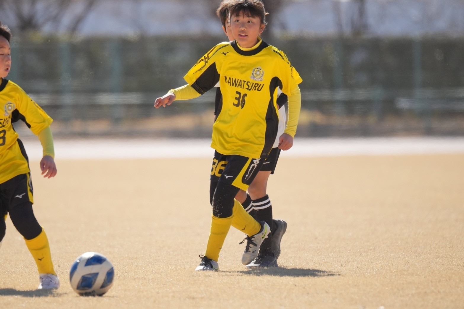
M 23 118 L 39 137 L 44 149 L 40 161 L 42 175 L 55 177 L 52 119 L 18 85 L 5 79 L 11 68 L 11 32 L 0 25 L 0 214 L 11 221 L 24 237 L 39 270 L 39 289 L 57 289 L 59 280 L 53 268 L 47 235 L 32 211 L 32 180 L 26 151 L 12 126 L 12 114 Z M 0 220 L 0 241 L 6 232 Z

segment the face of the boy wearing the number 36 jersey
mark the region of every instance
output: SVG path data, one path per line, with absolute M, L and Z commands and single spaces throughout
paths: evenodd
M 243 48 L 255 46 L 259 35 L 264 31 L 264 24 L 261 24 L 259 17 L 248 17 L 243 12 L 231 16 L 230 25 L 228 30 L 232 31 L 232 36 Z

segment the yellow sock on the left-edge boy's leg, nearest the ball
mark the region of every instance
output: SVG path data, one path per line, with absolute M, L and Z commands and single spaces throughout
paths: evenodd
M 53 269 L 52 254 L 50 253 L 50 246 L 48 244 L 47 234 L 42 229 L 42 233 L 32 240 L 26 240 L 26 246 L 34 257 L 35 263 L 39 274 L 52 274 L 57 275 Z

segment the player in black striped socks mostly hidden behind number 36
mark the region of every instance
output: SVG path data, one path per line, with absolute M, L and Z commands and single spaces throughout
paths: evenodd
M 223 0 L 216 13 L 221 20 L 222 30 L 226 34 L 229 41 L 233 41 L 232 31 L 230 29 L 229 10 L 228 6 L 234 0 Z M 216 102 L 214 114 L 222 101 L 222 95 L 219 88 L 216 90 Z M 267 195 L 267 181 L 274 170 L 279 158 L 279 139 L 284 133 L 286 124 L 286 113 L 284 104 L 287 103 L 287 95 L 280 93 L 277 97 L 277 106 L 279 107 L 279 126 L 277 131 L 277 139 L 269 153 L 269 156 L 264 161 L 261 170 L 259 170 L 253 182 L 248 187 L 248 194 L 244 190 L 239 190 L 235 199 L 240 202 L 246 212 L 251 214 L 256 220 L 265 221 L 271 227 L 271 233 L 266 238 L 263 244 L 259 247 L 259 254 L 249 265 L 249 267 L 277 267 L 277 259 L 280 256 L 280 242 L 287 230 L 287 222 L 281 219 L 273 219 L 272 204 Z M 291 145 L 290 145 L 291 147 Z

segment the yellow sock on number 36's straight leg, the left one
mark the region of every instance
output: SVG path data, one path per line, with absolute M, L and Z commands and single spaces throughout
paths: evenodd
M 218 218 L 213 215 L 211 217 L 211 231 L 208 245 L 206 246 L 205 256 L 217 262 L 219 259 L 219 252 L 222 249 L 224 240 L 226 240 L 227 233 L 229 233 L 233 215 L 229 218 Z

